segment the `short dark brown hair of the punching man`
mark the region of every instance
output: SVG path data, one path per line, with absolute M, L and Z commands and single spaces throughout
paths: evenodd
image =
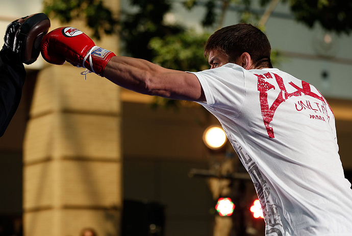
M 252 24 L 239 23 L 224 27 L 212 34 L 205 46 L 204 56 L 217 49 L 235 62 L 243 53 L 248 53 L 256 68 L 272 68 L 271 46 L 266 35 Z

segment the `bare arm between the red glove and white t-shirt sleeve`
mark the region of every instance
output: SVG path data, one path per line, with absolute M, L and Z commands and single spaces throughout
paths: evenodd
M 112 57 L 105 67 L 104 77 L 138 93 L 179 100 L 206 100 L 194 74 L 166 69 L 142 59 Z

